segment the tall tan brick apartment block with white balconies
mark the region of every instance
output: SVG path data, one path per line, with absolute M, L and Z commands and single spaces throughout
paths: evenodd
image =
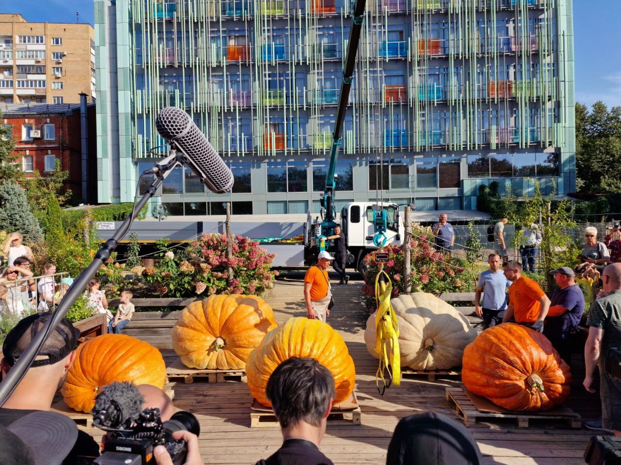
M 90 24 L 28 22 L 0 14 L 0 104 L 78 104 L 95 96 Z

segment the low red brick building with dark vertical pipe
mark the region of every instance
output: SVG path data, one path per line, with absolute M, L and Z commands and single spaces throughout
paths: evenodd
M 84 203 L 96 199 L 97 185 L 95 104 L 87 97 L 81 104 L 0 104 L 0 123 L 11 128 L 26 177 L 35 170 L 45 176 L 60 161 L 69 172 L 65 188 Z

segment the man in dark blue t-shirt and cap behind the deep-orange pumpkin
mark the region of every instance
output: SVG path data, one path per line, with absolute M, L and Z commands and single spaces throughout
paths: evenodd
M 543 335 L 550 339 L 556 352 L 571 366 L 571 344 L 584 312 L 584 294 L 576 284 L 574 270 L 560 267 L 550 272 L 560 287 L 552 294 Z

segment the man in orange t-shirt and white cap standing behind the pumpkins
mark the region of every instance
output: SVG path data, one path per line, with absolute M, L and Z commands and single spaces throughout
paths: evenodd
M 304 301 L 306 301 L 306 314 L 310 319 L 319 319 L 325 322 L 330 316 L 328 305 L 332 299 L 330 292 L 330 279 L 328 278 L 328 265 L 334 257 L 325 250 L 317 255 L 317 265 L 309 268 L 304 276 Z

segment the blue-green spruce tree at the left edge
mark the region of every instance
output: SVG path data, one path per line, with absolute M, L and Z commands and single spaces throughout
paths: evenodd
M 39 221 L 32 214 L 24 189 L 14 182 L 0 184 L 0 230 L 19 231 L 27 242 L 43 239 Z

